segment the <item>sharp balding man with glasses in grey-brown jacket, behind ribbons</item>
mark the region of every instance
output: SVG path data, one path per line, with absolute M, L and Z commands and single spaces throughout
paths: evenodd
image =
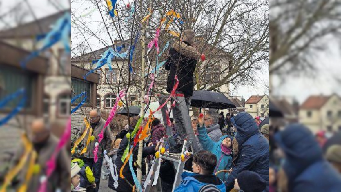
M 91 141 L 89 145 L 87 146 L 87 151 L 83 154 L 83 161 L 85 164 L 87 164 L 93 172 L 93 176 L 95 177 L 95 183 L 96 183 L 96 188 L 95 192 L 99 190 L 100 187 L 100 180 L 101 180 L 101 168 L 102 168 L 102 162 L 103 162 L 103 151 L 106 150 L 107 152 L 110 152 L 111 149 L 111 144 L 112 144 L 112 137 L 111 137 L 111 131 L 109 126 L 107 126 L 104 131 L 103 131 L 103 139 L 101 143 L 98 143 L 98 135 L 101 133 L 104 125 L 105 125 L 105 120 L 101 118 L 101 111 L 100 109 L 92 109 L 90 111 L 90 125 L 91 128 L 93 129 L 92 136 L 91 136 Z M 86 130 L 86 125 L 85 123 L 83 124 L 80 132 L 78 133 L 78 136 L 80 137 L 81 134 Z M 83 139 L 83 147 L 86 146 L 87 139 L 89 135 L 88 133 L 85 135 L 85 139 Z M 95 163 L 94 162 L 94 154 L 93 150 L 95 149 L 95 145 L 98 145 L 98 152 L 97 152 L 97 157 L 98 161 Z

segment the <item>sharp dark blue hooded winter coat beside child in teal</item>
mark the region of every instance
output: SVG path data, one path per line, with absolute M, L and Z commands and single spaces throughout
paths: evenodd
M 249 170 L 256 172 L 267 181 L 269 190 L 269 141 L 261 134 L 253 117 L 245 112 L 238 113 L 231 118 L 234 127 L 237 128 L 236 139 L 238 141 L 237 163 L 232 167 L 233 171 L 227 178 L 226 190 L 233 189 L 237 175 Z

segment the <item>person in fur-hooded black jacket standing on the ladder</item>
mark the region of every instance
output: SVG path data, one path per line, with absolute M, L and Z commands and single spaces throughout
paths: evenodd
M 176 91 L 176 98 L 184 97 L 186 102 L 187 112 L 189 113 L 190 98 L 194 88 L 193 73 L 196 67 L 198 58 L 200 58 L 199 52 L 194 47 L 195 34 L 191 29 L 188 29 L 181 33 L 180 42 L 175 42 L 169 49 L 167 61 L 165 63 L 165 69 L 169 72 L 167 80 L 167 92 L 171 92 L 175 85 L 175 75 L 178 76 L 179 85 Z M 181 113 L 180 104 L 176 101 L 173 108 L 173 118 L 175 120 L 175 126 L 177 132 L 180 135 L 180 142 L 170 149 L 172 153 L 180 153 L 183 145 L 183 141 L 187 136 L 186 123 Z M 190 121 L 190 119 L 188 119 Z

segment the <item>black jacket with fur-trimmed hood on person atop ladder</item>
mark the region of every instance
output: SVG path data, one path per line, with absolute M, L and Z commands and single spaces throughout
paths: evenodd
M 200 54 L 187 42 L 175 42 L 169 49 L 169 55 L 165 63 L 165 69 L 169 71 L 167 80 L 167 92 L 171 92 L 175 85 L 175 75 L 178 75 L 179 86 L 177 91 L 186 96 L 192 96 L 194 87 L 193 73 Z

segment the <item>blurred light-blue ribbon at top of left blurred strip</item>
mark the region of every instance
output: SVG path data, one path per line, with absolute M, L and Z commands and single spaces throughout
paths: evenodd
M 53 29 L 48 32 L 44 38 L 43 47 L 33 51 L 29 56 L 27 56 L 23 61 L 21 61 L 21 67 L 25 68 L 27 62 L 29 62 L 34 57 L 37 57 L 41 52 L 50 48 L 52 45 L 59 41 L 62 41 L 66 53 L 71 52 L 69 45 L 69 37 L 71 34 L 71 15 L 66 12 L 61 18 L 56 21 Z

